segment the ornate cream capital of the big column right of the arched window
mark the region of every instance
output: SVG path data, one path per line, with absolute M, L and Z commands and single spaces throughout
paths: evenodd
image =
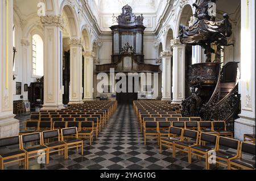
M 46 15 L 46 16 L 40 16 L 41 23 L 43 26 L 57 26 L 61 29 L 64 28 L 65 23 L 62 16 L 56 16 L 56 15 Z

